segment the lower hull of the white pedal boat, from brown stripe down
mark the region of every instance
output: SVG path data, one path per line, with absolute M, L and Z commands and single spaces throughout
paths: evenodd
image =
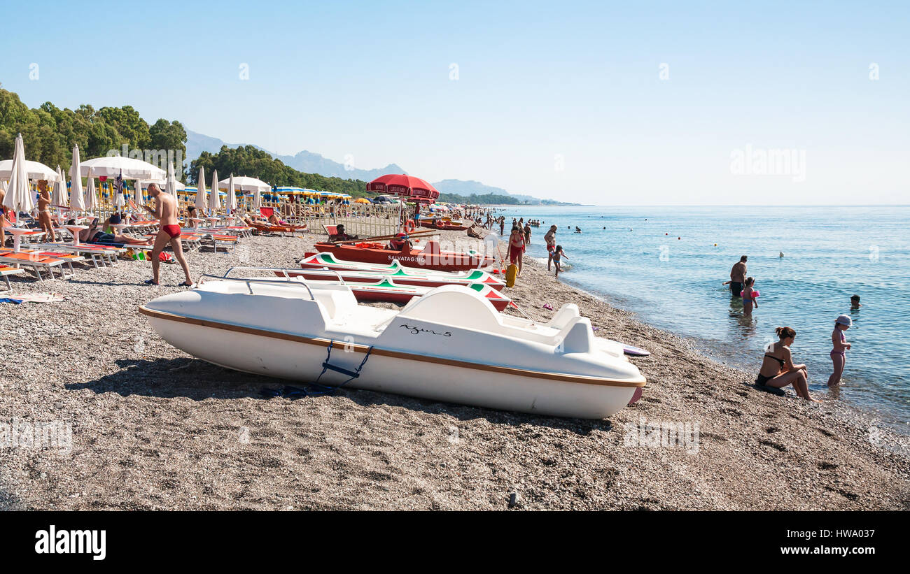
M 267 332 L 229 323 L 197 320 L 142 307 L 168 343 L 222 367 L 290 381 L 313 382 L 326 361 L 329 341 Z M 335 341 L 330 362 L 355 370 L 367 348 Z M 237 352 L 243 349 L 243 352 Z M 478 365 L 426 355 L 374 349 L 362 376 L 326 371 L 319 384 L 390 392 L 430 401 L 448 401 L 537 415 L 603 419 L 620 411 L 644 381 L 604 383 L 565 375 Z M 348 382 L 346 382 L 348 381 Z

